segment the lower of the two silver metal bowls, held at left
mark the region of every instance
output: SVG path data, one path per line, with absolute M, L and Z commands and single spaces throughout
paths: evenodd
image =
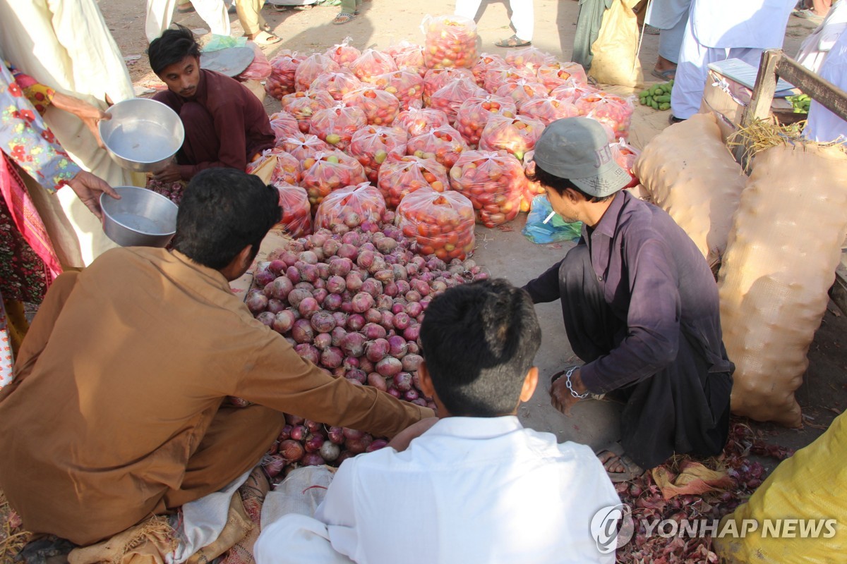
M 116 186 L 120 200 L 100 194 L 103 232 L 121 247 L 164 247 L 176 233 L 174 202 L 136 186 Z

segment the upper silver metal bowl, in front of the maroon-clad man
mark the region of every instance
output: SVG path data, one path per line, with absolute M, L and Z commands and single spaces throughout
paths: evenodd
M 185 129 L 180 116 L 160 101 L 131 98 L 108 109 L 97 124 L 108 154 L 121 167 L 158 172 L 180 150 Z

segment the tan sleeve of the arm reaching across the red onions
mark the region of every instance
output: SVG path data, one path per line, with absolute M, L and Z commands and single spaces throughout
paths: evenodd
M 434 415 L 429 408 L 327 374 L 301 359 L 291 344 L 266 327 L 255 333 L 252 360 L 235 393 L 238 397 L 314 421 L 388 437 Z

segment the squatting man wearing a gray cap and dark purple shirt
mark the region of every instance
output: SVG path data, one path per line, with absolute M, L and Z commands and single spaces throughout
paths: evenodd
M 551 123 L 534 162 L 553 210 L 583 222 L 579 244 L 525 287 L 535 304 L 562 300 L 567 339 L 585 363 L 553 376 L 553 405 L 568 414 L 589 394 L 625 402 L 621 441 L 600 453 L 612 481 L 674 452 L 717 455 L 734 366 L 703 255 L 665 211 L 621 190 L 630 178 L 600 123 Z

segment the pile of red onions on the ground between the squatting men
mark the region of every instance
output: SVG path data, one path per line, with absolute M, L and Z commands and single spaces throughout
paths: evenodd
M 304 359 L 354 386 L 373 386 L 435 408 L 418 385 L 418 333 L 429 302 L 448 287 L 487 275 L 473 260 L 448 264 L 414 255 L 409 239 L 383 223 L 344 224 L 291 241 L 257 265 L 246 304 L 280 332 Z M 238 404 L 237 398 L 235 403 Z M 329 427 L 296 415 L 263 461 L 268 474 L 329 463 L 385 446 L 358 430 Z

